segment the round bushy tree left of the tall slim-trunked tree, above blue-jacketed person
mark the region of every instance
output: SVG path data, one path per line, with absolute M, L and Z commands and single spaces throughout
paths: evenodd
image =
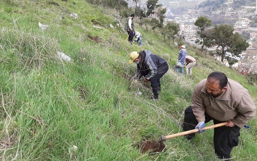
M 179 24 L 175 22 L 169 22 L 163 29 L 162 29 L 162 36 L 168 39 L 174 39 L 177 33 L 179 32 Z

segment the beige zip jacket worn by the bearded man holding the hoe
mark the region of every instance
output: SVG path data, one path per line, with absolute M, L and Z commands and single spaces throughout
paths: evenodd
M 256 114 L 256 106 L 241 84 L 228 79 L 227 89 L 213 98 L 207 95 L 206 80 L 201 80 L 192 94 L 192 109 L 198 122 L 205 121 L 206 112 L 216 120 L 232 120 L 238 127 L 243 127 Z

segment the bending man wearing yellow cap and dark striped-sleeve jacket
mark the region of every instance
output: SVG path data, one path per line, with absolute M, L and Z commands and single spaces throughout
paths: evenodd
M 143 50 L 141 52 L 131 52 L 129 54 L 129 63 L 135 63 L 136 79 L 140 79 L 144 76 L 145 82 L 151 82 L 154 101 L 158 100 L 158 91 L 161 90 L 160 78 L 168 71 L 168 63 L 158 55 L 153 54 L 149 50 Z

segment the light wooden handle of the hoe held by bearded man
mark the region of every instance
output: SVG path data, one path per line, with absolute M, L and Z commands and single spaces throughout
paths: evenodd
M 220 126 L 225 126 L 225 125 L 227 125 L 227 122 L 206 126 L 206 127 L 203 128 L 203 130 L 208 130 L 208 129 L 212 129 L 212 128 L 216 128 L 216 127 L 220 127 Z M 177 133 L 177 134 L 161 136 L 161 140 L 165 141 L 167 139 L 171 139 L 171 138 L 175 138 L 175 137 L 183 136 L 183 135 L 188 135 L 188 134 L 192 134 L 192 133 L 196 133 L 196 132 L 199 132 L 198 128 L 194 129 L 194 130 L 184 131 L 184 132 Z

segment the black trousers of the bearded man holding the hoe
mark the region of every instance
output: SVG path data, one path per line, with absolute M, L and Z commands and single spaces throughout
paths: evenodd
M 222 123 L 224 121 L 216 120 L 210 117 L 207 113 L 205 115 L 205 123 L 213 120 L 214 124 Z M 185 109 L 185 117 L 183 122 L 183 131 L 195 129 L 198 121 L 193 113 L 192 107 L 189 106 Z M 214 128 L 214 148 L 215 153 L 220 159 L 230 158 L 230 153 L 234 146 L 238 145 L 238 136 L 240 135 L 240 127 L 226 127 L 221 126 Z M 195 136 L 194 134 L 189 134 L 186 136 L 187 139 L 192 139 Z

